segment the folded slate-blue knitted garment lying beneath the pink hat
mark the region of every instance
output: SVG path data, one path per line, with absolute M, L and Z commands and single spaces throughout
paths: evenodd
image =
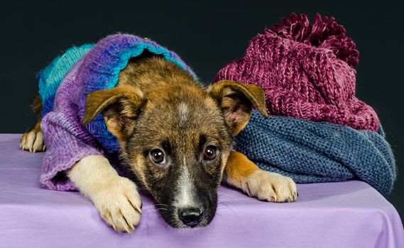
M 388 195 L 395 160 L 382 128 L 379 133 L 253 111 L 234 149 L 258 167 L 290 176 L 297 183 L 360 179 Z

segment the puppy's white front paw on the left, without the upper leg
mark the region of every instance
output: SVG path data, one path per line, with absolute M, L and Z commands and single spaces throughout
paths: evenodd
M 141 220 L 141 196 L 136 185 L 117 176 L 91 197 L 108 225 L 119 232 L 133 232 Z

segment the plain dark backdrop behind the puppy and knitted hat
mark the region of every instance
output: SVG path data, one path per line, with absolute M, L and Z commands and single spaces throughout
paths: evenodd
M 364 4 L 366 3 L 366 4 Z M 399 176 L 388 198 L 404 216 L 403 6 L 390 1 L 13 1 L 0 6 L 0 133 L 23 133 L 36 73 L 72 45 L 121 32 L 175 50 L 204 82 L 244 55 L 263 28 L 291 12 L 334 16 L 361 55 L 357 96 L 376 109 L 395 152 Z

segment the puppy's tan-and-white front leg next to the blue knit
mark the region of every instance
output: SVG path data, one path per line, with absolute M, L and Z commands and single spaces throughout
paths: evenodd
M 240 152 L 231 152 L 224 181 L 263 201 L 291 202 L 297 198 L 295 182 L 287 176 L 264 171 Z

